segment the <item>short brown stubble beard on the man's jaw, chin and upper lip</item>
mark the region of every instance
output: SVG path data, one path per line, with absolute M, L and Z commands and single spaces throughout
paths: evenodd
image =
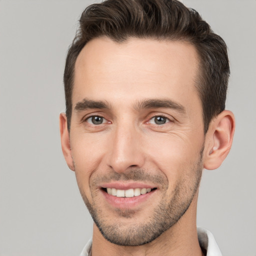
M 199 187 L 203 168 L 202 152 L 203 147 L 200 151 L 198 161 L 190 168 L 189 174 L 191 174 L 188 174 L 186 177 L 183 177 L 182 180 L 179 180 L 175 184 L 174 189 L 169 192 L 172 195 L 169 201 L 166 201 L 166 199 L 164 200 L 166 194 L 168 193 L 167 180 L 164 180 L 159 176 L 155 177 L 155 179 L 158 179 L 158 183 L 161 179 L 161 187 L 165 187 L 166 190 L 163 193 L 162 198 L 159 200 L 158 205 L 152 209 L 150 217 L 148 217 L 146 222 L 143 223 L 137 223 L 134 221 L 134 224 L 132 224 L 136 216 L 136 211 L 131 209 L 116 209 L 115 213 L 117 213 L 120 218 L 115 218 L 113 223 L 109 224 L 109 219 L 105 217 L 104 211 L 101 209 L 100 205 L 97 205 L 95 200 L 92 200 L 92 203 L 90 203 L 84 191 L 79 187 L 83 201 L 103 237 L 109 242 L 117 245 L 138 246 L 153 241 L 164 231 L 173 226 L 186 212 Z M 117 175 L 119 175 L 119 180 L 125 180 L 125 178 L 123 179 L 124 174 L 113 174 L 115 177 L 117 177 Z M 140 180 L 145 175 L 146 172 L 144 170 L 132 170 L 130 176 L 128 174 L 126 179 L 131 179 L 130 177 L 132 176 L 131 180 Z M 149 179 L 151 181 L 155 181 L 152 177 Z M 92 193 L 92 199 L 95 196 L 96 194 Z M 124 227 L 122 225 L 123 218 L 126 220 L 130 219 L 131 224 L 128 227 Z

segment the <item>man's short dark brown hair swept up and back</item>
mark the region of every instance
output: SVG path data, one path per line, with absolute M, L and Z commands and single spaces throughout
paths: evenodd
M 190 42 L 199 56 L 196 88 L 202 103 L 205 133 L 212 117 L 224 110 L 229 77 L 226 44 L 197 11 L 178 0 L 106 0 L 89 5 L 82 12 L 68 49 L 64 70 L 68 130 L 76 58 L 89 40 L 100 36 L 116 42 L 130 37 Z

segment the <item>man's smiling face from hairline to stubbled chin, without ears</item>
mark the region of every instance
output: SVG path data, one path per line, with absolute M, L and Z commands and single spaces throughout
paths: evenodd
M 191 44 L 153 39 L 97 38 L 77 58 L 70 154 L 110 242 L 150 242 L 194 200 L 204 145 L 197 63 Z

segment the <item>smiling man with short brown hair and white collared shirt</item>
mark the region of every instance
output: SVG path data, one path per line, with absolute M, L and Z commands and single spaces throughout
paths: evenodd
M 226 45 L 177 0 L 107 0 L 64 71 L 62 151 L 94 220 L 81 255 L 221 255 L 196 228 L 202 169 L 229 152 Z

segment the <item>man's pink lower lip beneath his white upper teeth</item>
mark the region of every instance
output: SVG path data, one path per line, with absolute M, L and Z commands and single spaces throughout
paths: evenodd
M 101 190 L 103 196 L 105 197 L 106 201 L 115 208 L 132 208 L 135 206 L 140 205 L 141 203 L 147 201 L 155 192 L 152 190 L 148 193 L 141 194 L 138 196 L 133 197 L 117 197 L 107 192 Z

